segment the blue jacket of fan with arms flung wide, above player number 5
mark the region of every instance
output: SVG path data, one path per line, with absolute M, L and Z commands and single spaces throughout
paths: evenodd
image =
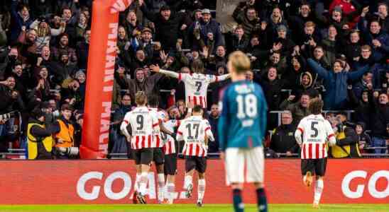
M 364 66 L 357 71 L 334 73 L 334 71 L 324 69 L 320 64 L 310 58 L 308 59 L 308 64 L 312 68 L 312 71 L 324 79 L 324 86 L 327 90 L 323 98 L 325 110 L 343 109 L 347 102 L 347 81 L 356 81 L 358 78 L 361 78 L 363 73 L 369 71 L 369 67 Z

